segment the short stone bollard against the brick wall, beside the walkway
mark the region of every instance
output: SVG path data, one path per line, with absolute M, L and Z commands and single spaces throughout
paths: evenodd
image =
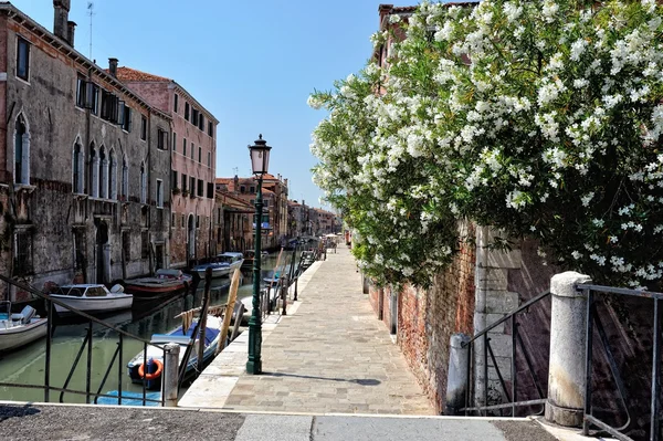
M 469 342 L 470 336 L 462 333 L 451 336 L 444 414 L 459 414 L 460 409 L 465 407 L 465 392 L 469 386 L 467 367 L 470 365 Z

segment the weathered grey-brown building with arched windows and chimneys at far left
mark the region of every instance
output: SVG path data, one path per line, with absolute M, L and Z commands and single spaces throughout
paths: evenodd
M 41 288 L 168 266 L 171 118 L 78 53 L 53 3 L 54 32 L 0 3 L 0 272 Z

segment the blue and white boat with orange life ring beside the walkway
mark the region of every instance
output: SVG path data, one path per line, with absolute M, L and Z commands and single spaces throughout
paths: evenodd
M 187 329 L 187 332 L 182 332 L 182 327 L 178 327 L 175 330 L 171 330 L 168 334 L 152 334 L 150 342 L 164 346 L 168 343 L 176 343 L 180 345 L 180 359 L 179 364 L 183 363 L 185 353 L 187 351 L 187 346 L 191 344 L 191 336 L 193 330 L 196 329 L 196 324 L 198 321 L 194 321 L 191 326 Z M 223 324 L 222 318 L 214 317 L 213 315 L 208 315 L 207 318 L 207 327 L 204 334 L 204 351 L 202 355 L 203 363 L 209 361 L 217 350 L 217 346 L 219 345 L 219 339 L 221 338 L 221 325 Z M 185 372 L 185 378 L 192 375 L 196 371 L 196 366 L 198 365 L 198 345 L 199 339 L 197 338 L 193 343 L 194 347 L 191 351 L 191 357 L 189 358 L 189 363 L 187 364 L 187 370 Z M 148 389 L 159 389 L 161 387 L 161 374 L 164 368 L 164 351 L 155 346 L 147 347 L 147 357 L 144 356 L 143 350 L 138 353 L 134 358 L 129 360 L 127 364 L 128 375 L 133 382 L 143 384 L 143 377 L 139 375 L 139 368 L 144 364 L 147 358 L 147 368 L 143 368 L 144 374 L 157 374 L 154 379 L 149 379 L 147 381 Z

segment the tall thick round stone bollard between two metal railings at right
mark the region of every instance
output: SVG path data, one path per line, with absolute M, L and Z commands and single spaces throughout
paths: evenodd
M 550 360 L 546 420 L 580 427 L 585 407 L 587 296 L 576 285 L 591 283 L 572 271 L 550 280 Z

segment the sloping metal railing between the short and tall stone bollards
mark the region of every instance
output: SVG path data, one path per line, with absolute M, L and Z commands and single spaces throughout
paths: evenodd
M 463 345 L 463 347 L 469 347 L 470 363 L 467 364 L 467 385 L 465 387 L 465 407 L 460 409 L 461 412 L 464 412 L 466 416 L 470 414 L 471 412 L 476 412 L 478 414 L 487 416 L 488 411 L 499 411 L 499 413 L 502 416 L 515 417 L 517 408 L 532 407 L 532 406 L 541 406 L 541 410 L 536 412 L 537 414 L 540 414 L 544 412 L 544 409 L 545 409 L 544 406 L 546 402 L 547 393 L 544 391 L 543 384 L 536 374 L 534 361 L 532 359 L 529 351 L 527 350 L 527 346 L 524 344 L 523 337 L 518 333 L 519 324 L 517 322 L 517 315 L 520 313 L 527 313 L 532 306 L 536 305 L 544 298 L 549 297 L 549 295 L 550 295 L 550 292 L 545 292 L 543 294 L 537 295 L 529 302 L 520 305 L 514 312 L 509 313 L 508 315 L 505 315 L 503 318 L 498 319 L 497 322 L 495 322 L 492 325 L 487 326 L 486 328 L 482 329 L 478 334 L 474 335 L 466 344 Z M 502 371 L 499 370 L 499 366 L 497 364 L 495 353 L 493 351 L 493 347 L 491 346 L 491 337 L 488 336 L 488 333 L 491 330 L 495 329 L 497 326 L 499 326 L 502 324 L 506 324 L 507 322 L 511 323 L 511 327 L 512 327 L 511 388 L 507 387 L 504 376 L 502 375 Z M 475 385 L 476 385 L 476 381 L 475 381 L 476 357 L 475 357 L 475 355 L 476 354 L 475 354 L 475 350 L 476 350 L 476 346 L 478 346 L 477 345 L 478 342 L 482 343 L 481 350 L 483 351 L 483 354 L 482 354 L 482 358 L 483 358 L 483 366 L 482 366 L 482 368 L 483 368 L 483 372 L 482 372 L 483 374 L 482 375 L 482 377 L 483 377 L 483 388 L 482 388 L 483 397 L 481 397 L 481 400 L 480 400 L 482 406 L 472 406 L 471 403 L 477 402 L 477 397 L 475 396 L 476 395 L 476 387 L 475 387 Z M 517 370 L 517 349 L 518 349 L 518 347 L 520 348 L 520 353 L 527 365 L 527 372 L 529 374 L 532 381 L 534 382 L 537 395 L 539 397 L 538 399 L 524 400 L 524 401 L 517 400 L 518 399 L 517 398 L 518 397 L 518 370 Z M 491 358 L 492 367 L 495 369 L 495 372 L 497 375 L 497 380 L 498 380 L 499 387 L 501 387 L 502 402 L 497 403 L 497 405 L 488 405 L 488 382 L 490 382 L 488 357 Z M 504 411 L 508 410 L 508 409 L 511 409 L 511 413 L 504 414 Z

